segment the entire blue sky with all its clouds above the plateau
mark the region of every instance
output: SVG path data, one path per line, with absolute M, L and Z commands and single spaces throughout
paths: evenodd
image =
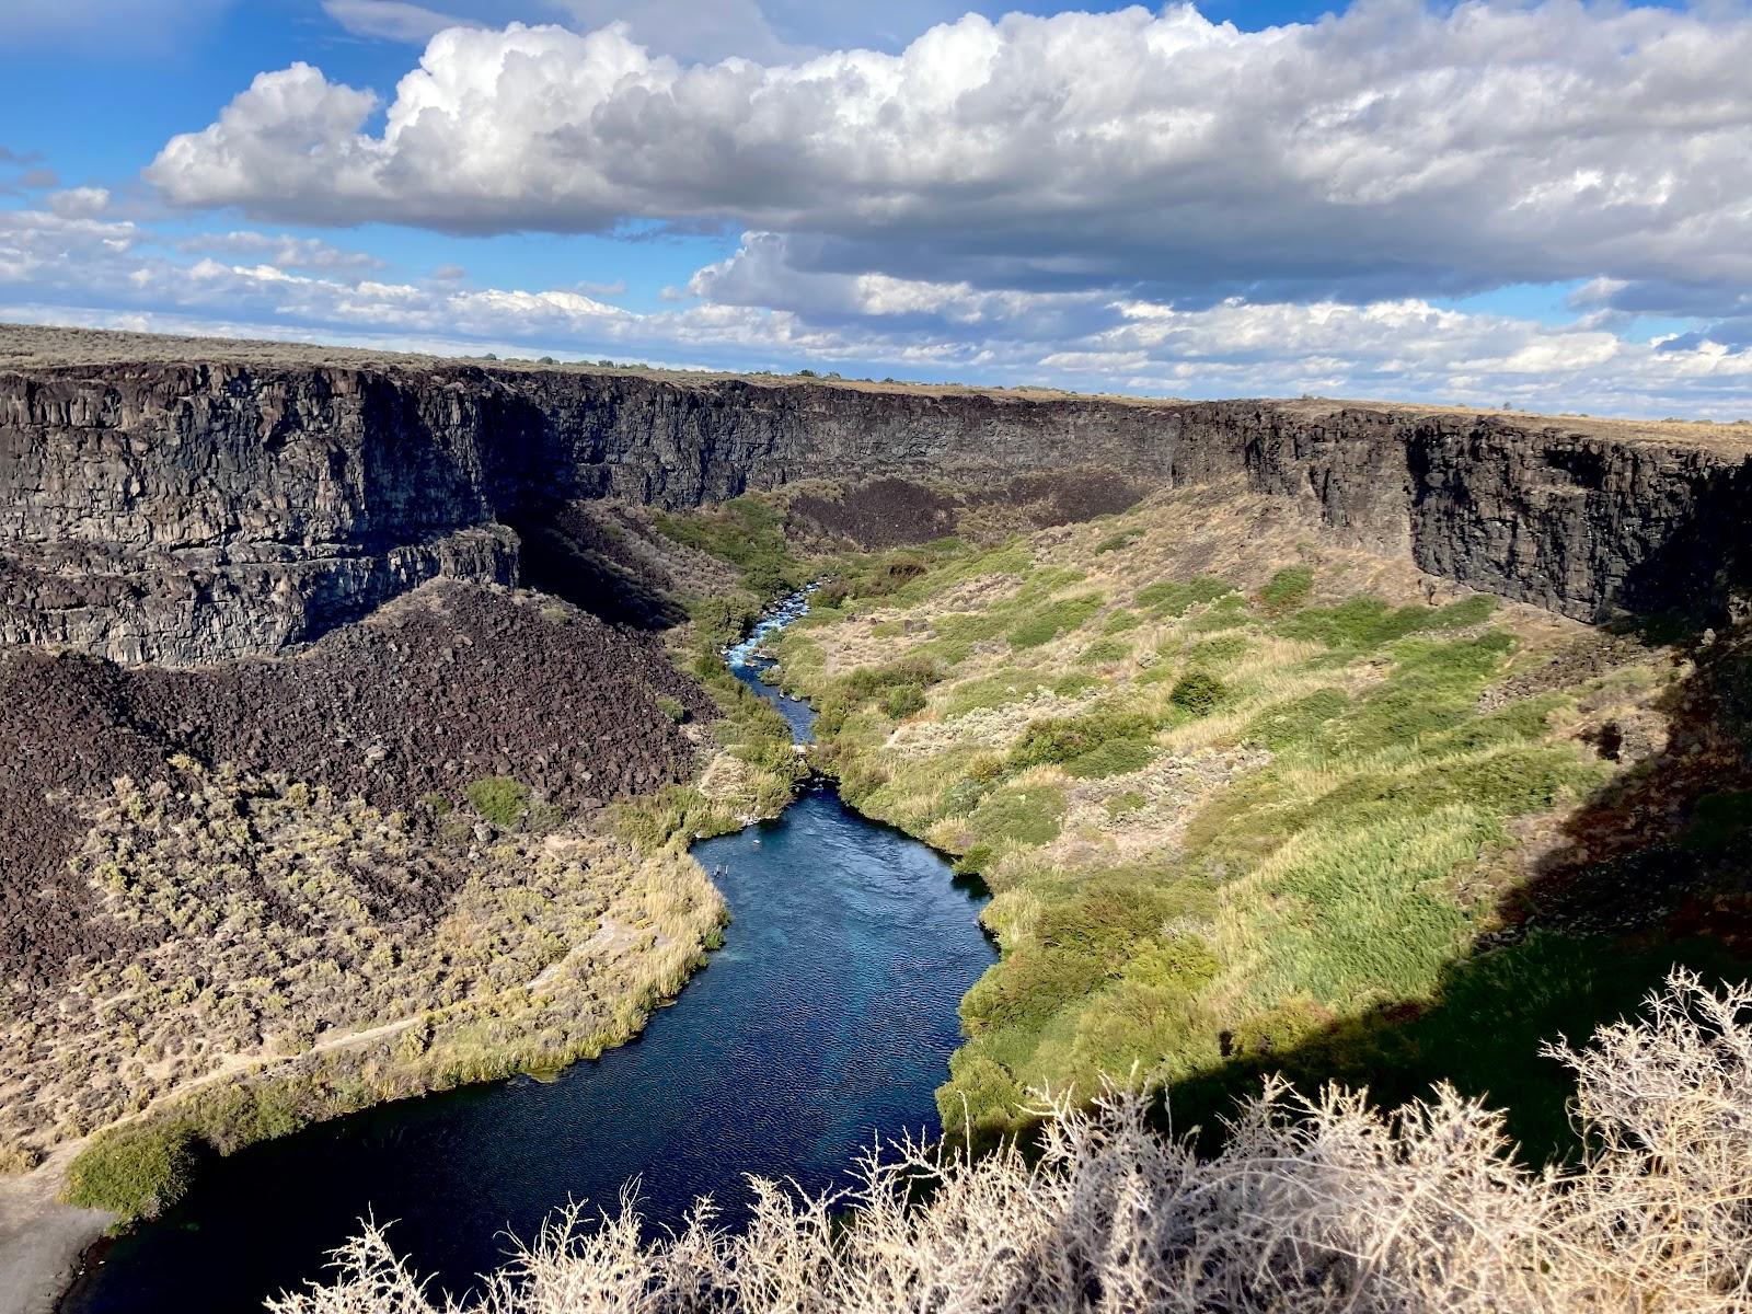
M 1752 0 L 0 11 L 0 321 L 1752 417 Z

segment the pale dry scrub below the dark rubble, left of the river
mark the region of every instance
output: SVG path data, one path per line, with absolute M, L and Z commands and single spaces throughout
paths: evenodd
M 413 1093 L 512 1053 L 601 1049 L 722 916 L 692 860 L 575 823 L 477 832 L 177 766 L 175 785 L 123 780 L 93 804 L 75 860 L 144 948 L 0 997 L 0 1144 L 19 1153 L 315 1058 Z M 456 895 L 406 915 L 396 890 L 422 885 Z

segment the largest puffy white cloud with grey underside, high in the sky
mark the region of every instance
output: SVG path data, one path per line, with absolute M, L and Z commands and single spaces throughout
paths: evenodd
M 375 98 L 265 74 L 177 205 L 449 231 L 734 223 L 827 272 L 1207 301 L 1615 277 L 1752 286 L 1752 18 L 1405 0 L 1265 32 L 967 16 L 899 54 L 687 65 L 622 26 L 450 30 Z

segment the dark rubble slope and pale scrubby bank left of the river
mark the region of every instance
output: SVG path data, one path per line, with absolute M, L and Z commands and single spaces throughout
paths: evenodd
M 14 652 L 0 683 L 7 787 L 53 804 L 7 823 L 70 818 L 37 853 L 65 897 L 0 943 L 30 986 L 0 1009 L 0 1163 L 39 1165 L 0 1176 L 0 1272 L 33 1303 L 196 1158 L 596 1056 L 718 941 L 697 864 L 601 802 L 692 776 L 717 704 L 655 638 L 555 597 L 434 583 L 282 662 Z M 72 752 L 39 743 L 51 724 Z M 317 774 L 249 766 L 282 759 Z

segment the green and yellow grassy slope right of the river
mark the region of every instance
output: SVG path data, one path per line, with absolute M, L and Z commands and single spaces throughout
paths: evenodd
M 1289 1067 L 1395 1097 L 1454 1079 L 1561 1142 L 1537 1037 L 1614 1016 L 1675 957 L 1726 960 L 1659 930 L 1473 946 L 1549 818 L 1612 774 L 1586 739 L 1645 724 L 1671 657 L 1503 699 L 1579 629 L 1388 603 L 1421 585 L 1282 536 L 1193 571 L 1221 554 L 1188 536 L 1155 508 L 844 562 L 781 643 L 848 802 L 993 890 L 1004 957 L 964 1000 L 946 1123 L 1007 1130 L 1030 1086 L 1134 1065 L 1204 1113 Z

